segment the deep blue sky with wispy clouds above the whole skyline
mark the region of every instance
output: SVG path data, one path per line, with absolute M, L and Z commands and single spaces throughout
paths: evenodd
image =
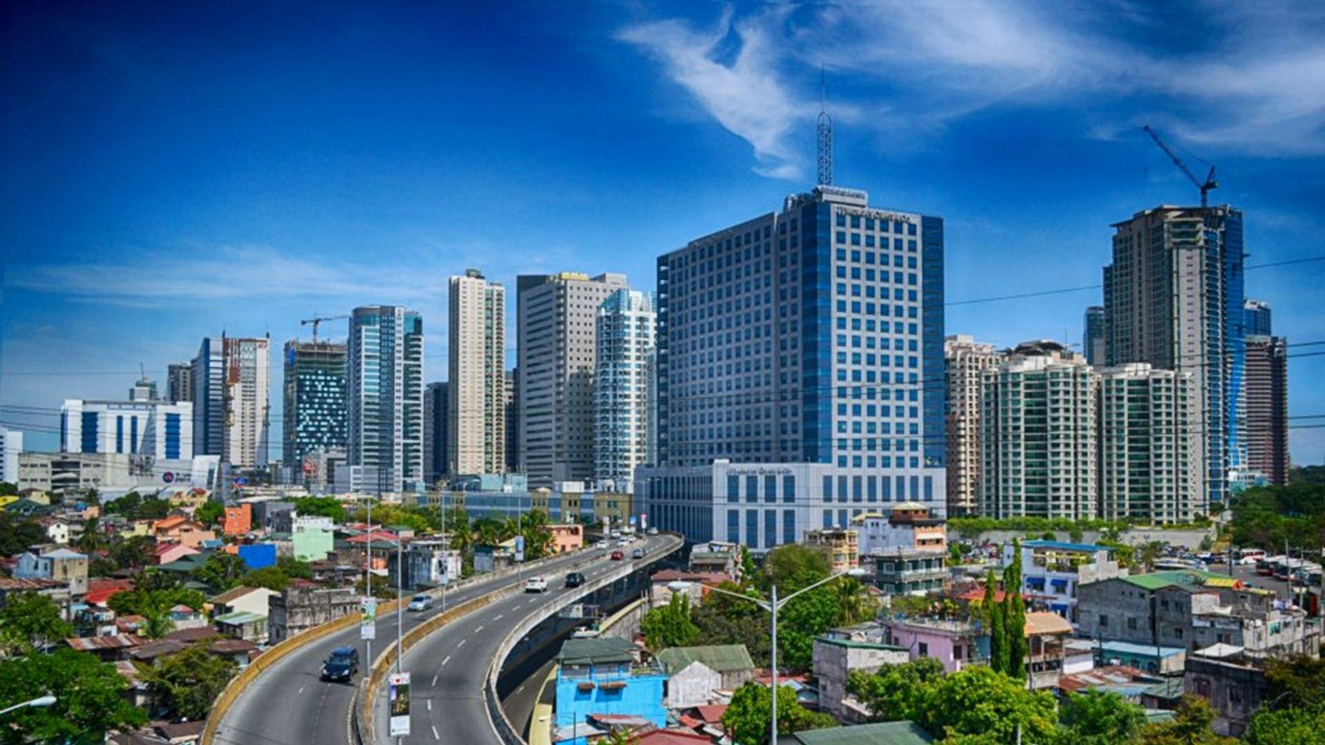
M 468 266 L 652 288 L 659 253 L 812 186 L 820 65 L 836 182 L 946 217 L 950 301 L 1098 284 L 1110 223 L 1192 203 L 1143 123 L 1218 164 L 1248 264 L 1325 255 L 1318 3 L 473 5 L 9 5 L 0 420 L 371 302 L 424 313 L 440 379 Z M 1247 292 L 1325 341 L 1322 280 Z M 1077 341 L 1098 301 L 947 331 Z M 1291 365 L 1292 414 L 1325 414 L 1325 355 Z M 1325 459 L 1325 430 L 1292 440 Z

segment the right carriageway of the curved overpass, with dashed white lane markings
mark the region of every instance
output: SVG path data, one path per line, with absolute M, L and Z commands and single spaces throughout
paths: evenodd
M 660 555 L 674 550 L 680 541 L 668 536 L 651 536 L 645 542 L 632 544 L 631 549 L 643 546 L 645 559 L 636 559 L 635 566 L 644 566 Z M 629 549 L 627 549 L 629 550 Z M 582 569 L 586 579 L 592 583 L 613 570 L 621 569 L 621 562 L 602 561 Z M 539 573 L 549 581 L 549 591 L 542 594 L 519 594 L 484 606 L 472 614 L 449 623 L 427 639 L 419 642 L 404 656 L 404 669 L 411 672 L 411 729 L 407 742 L 441 745 L 501 745 L 501 738 L 493 729 L 484 688 L 488 685 L 488 667 L 497 655 L 505 638 L 527 616 L 545 606 L 566 601 L 567 595 L 582 595 L 583 590 L 563 587 L 564 575 L 551 570 Z M 517 652 L 519 654 L 518 648 Z M 538 683 L 541 683 L 539 679 Z M 378 696 L 374 717 L 378 729 L 378 742 L 391 742 L 386 736 L 384 696 Z M 523 722 L 515 721 L 517 730 Z

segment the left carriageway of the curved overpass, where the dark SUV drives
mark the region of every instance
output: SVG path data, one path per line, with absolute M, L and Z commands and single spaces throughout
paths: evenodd
M 526 570 L 523 577 L 527 578 L 535 571 L 543 577 L 554 577 L 558 571 L 564 575 L 571 565 L 586 561 L 587 555 L 600 553 L 590 549 L 556 557 L 539 565 L 537 570 Z M 448 591 L 447 607 L 454 607 L 519 581 L 511 574 Z M 517 597 L 517 599 L 519 598 Z M 431 611 L 405 612 L 404 628 L 409 631 L 440 612 L 440 602 Z M 443 627 L 443 630 L 452 626 L 454 623 Z M 473 631 L 474 624 L 468 624 L 466 628 Z M 386 644 L 394 644 L 395 638 L 395 614 L 379 615 L 378 638 L 372 643 L 374 655 L 379 654 Z M 452 635 L 447 635 L 447 638 L 449 639 Z M 488 639 L 486 634 L 484 639 Z M 496 647 L 500 635 L 494 635 L 492 639 Z M 344 646 L 358 647 L 359 654 L 363 654 L 364 643 L 359 640 L 358 626 L 311 642 L 264 671 L 231 705 L 217 728 L 215 742 L 224 745 L 335 745 L 351 742 L 347 722 L 358 679 L 352 683 L 329 683 L 319 679 L 322 660 L 331 650 Z M 474 685 L 482 676 L 480 668 L 486 672 L 486 661 L 473 667 Z M 367 669 L 368 660 L 360 660 L 360 671 L 366 672 Z M 484 721 L 486 722 L 486 717 Z M 427 732 L 427 725 L 424 730 Z

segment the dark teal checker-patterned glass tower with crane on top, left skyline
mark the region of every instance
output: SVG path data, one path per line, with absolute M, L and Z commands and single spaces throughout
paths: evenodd
M 285 342 L 281 444 L 285 465 L 295 473 L 309 455 L 346 447 L 344 378 L 346 345 Z

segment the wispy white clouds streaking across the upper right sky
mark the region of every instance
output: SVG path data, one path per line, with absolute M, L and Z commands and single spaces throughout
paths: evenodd
M 849 95 L 845 118 L 882 130 L 890 147 L 914 147 L 998 105 L 1080 111 L 1085 137 L 1153 122 L 1234 152 L 1325 154 L 1325 8 L 1199 8 L 880 1 L 749 17 L 727 9 L 706 30 L 672 19 L 619 37 L 662 60 L 666 76 L 750 142 L 757 170 L 772 176 L 796 175 L 767 166 L 795 163 L 786 141 L 803 134 L 794 130 L 818 98 L 786 81 L 820 62 L 852 84 L 840 94 Z M 1186 36 L 1174 37 L 1173 24 Z M 729 34 L 741 52 L 723 65 Z

